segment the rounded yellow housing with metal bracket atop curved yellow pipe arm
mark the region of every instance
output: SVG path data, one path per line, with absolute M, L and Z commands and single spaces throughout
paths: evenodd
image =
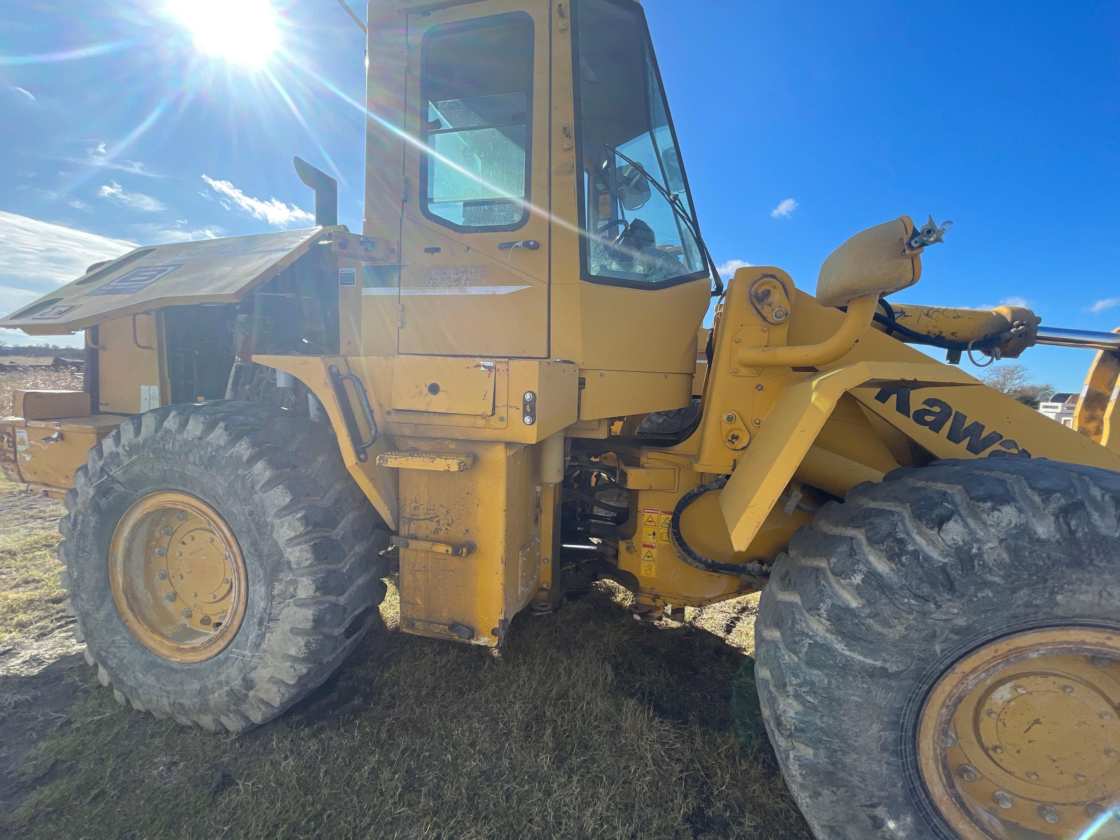
M 948 225 L 936 223 L 915 232 L 909 216 L 868 227 L 844 242 L 829 254 L 816 278 L 816 302 L 823 306 L 844 306 L 853 298 L 866 295 L 889 295 L 913 286 L 922 277 L 918 254 L 926 244 L 926 227 L 933 230 L 932 241 L 941 241 Z

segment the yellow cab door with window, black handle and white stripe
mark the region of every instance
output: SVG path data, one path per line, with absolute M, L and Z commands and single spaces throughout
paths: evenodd
M 548 357 L 547 2 L 408 16 L 401 353 Z

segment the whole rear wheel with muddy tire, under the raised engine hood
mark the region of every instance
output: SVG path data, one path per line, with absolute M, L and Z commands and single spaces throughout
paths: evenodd
M 121 703 L 243 731 L 320 685 L 376 617 L 389 535 L 315 422 L 243 402 L 158 409 L 74 483 L 63 586 Z

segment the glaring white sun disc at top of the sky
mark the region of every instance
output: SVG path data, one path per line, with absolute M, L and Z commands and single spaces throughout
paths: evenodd
M 280 44 L 269 0 L 167 0 L 167 10 L 199 50 L 234 64 L 263 67 Z

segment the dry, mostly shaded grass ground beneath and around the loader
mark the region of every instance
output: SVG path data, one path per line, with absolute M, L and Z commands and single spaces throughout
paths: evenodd
M 0 837 L 809 837 L 758 722 L 754 598 L 640 624 L 597 585 L 519 616 L 497 655 L 400 633 L 390 589 L 329 685 L 213 736 L 97 684 L 62 616 L 62 506 L 15 491 L 0 484 Z

